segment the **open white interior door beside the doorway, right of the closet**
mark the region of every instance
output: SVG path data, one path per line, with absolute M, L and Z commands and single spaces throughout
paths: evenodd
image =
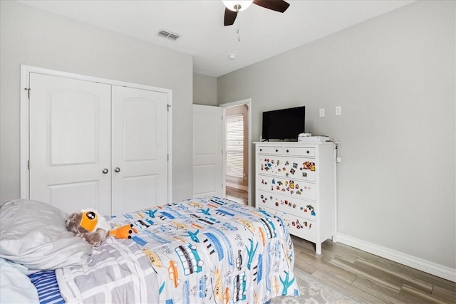
M 193 196 L 224 196 L 223 109 L 193 105 Z

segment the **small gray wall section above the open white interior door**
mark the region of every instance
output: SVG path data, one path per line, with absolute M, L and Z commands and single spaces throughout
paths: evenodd
M 217 78 L 193 73 L 193 103 L 217 105 Z

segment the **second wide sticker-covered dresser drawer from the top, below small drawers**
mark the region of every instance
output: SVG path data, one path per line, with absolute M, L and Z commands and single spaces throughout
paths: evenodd
M 258 175 L 257 189 L 274 194 L 286 194 L 297 199 L 315 200 L 316 198 L 316 184 L 302 182 L 296 179 Z

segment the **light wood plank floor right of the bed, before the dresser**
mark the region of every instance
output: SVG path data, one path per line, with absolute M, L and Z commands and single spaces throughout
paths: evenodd
M 366 303 L 456 303 L 456 283 L 380 258 L 343 243 L 314 243 L 292 236 L 294 267 Z

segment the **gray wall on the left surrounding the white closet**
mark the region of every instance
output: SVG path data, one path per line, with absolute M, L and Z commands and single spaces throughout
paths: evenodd
M 192 195 L 192 56 L 0 1 L 0 202 L 19 198 L 20 65 L 172 89 L 173 200 Z

